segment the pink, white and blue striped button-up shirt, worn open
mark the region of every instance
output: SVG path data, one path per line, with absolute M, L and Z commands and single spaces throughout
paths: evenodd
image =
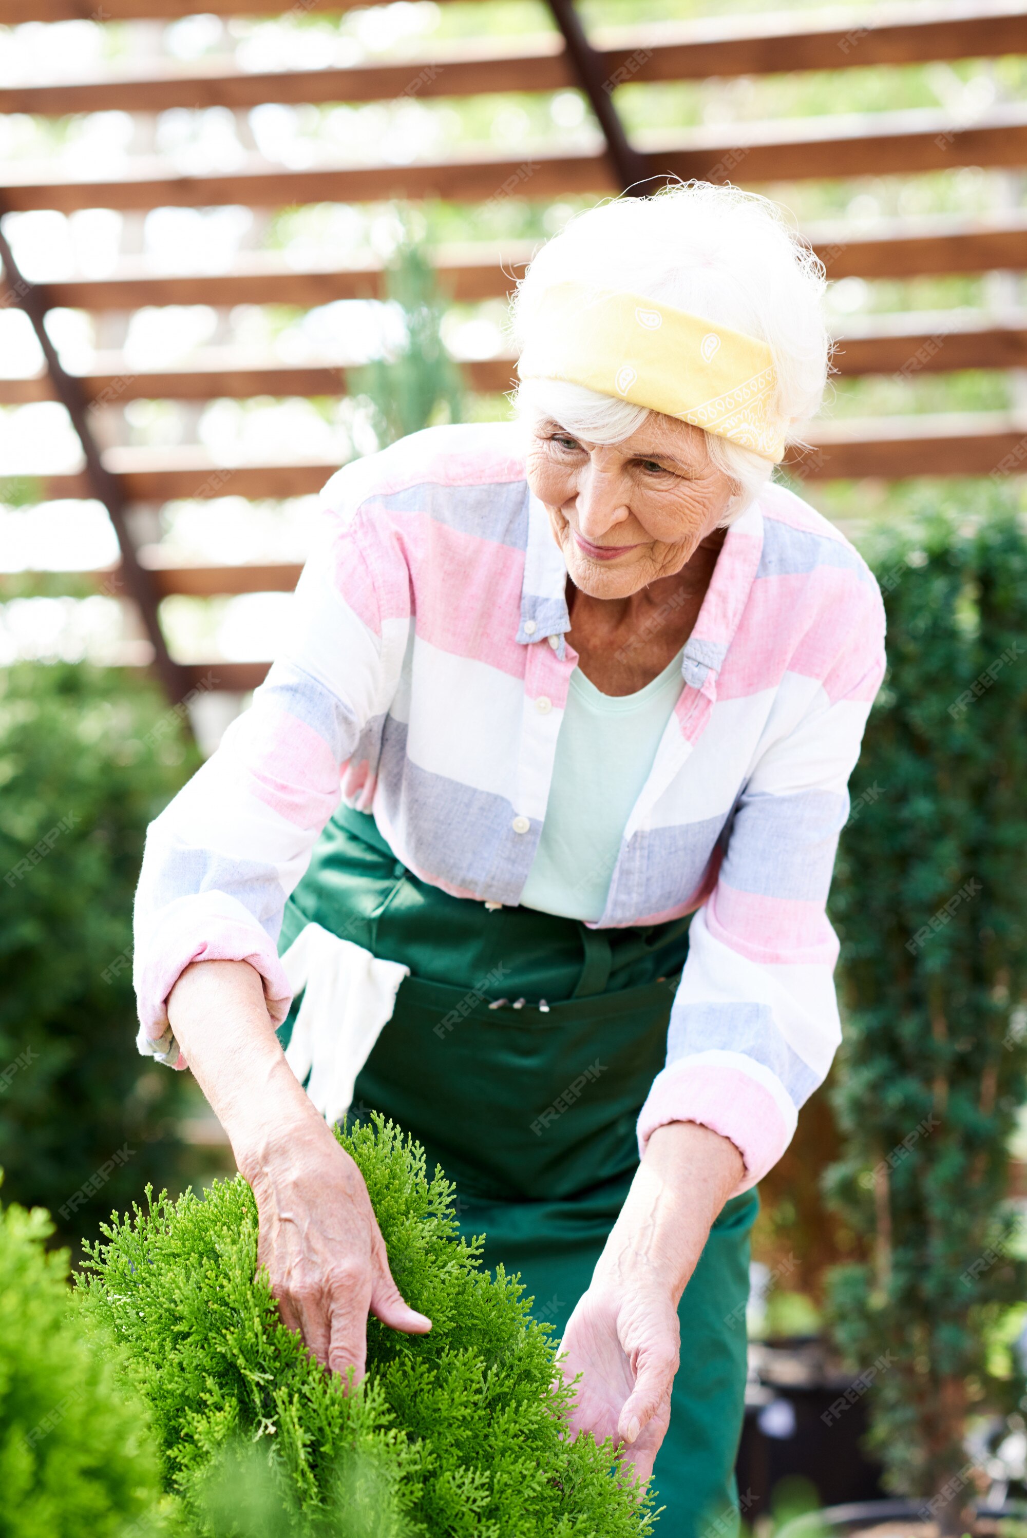
M 275 1021 L 284 901 L 338 806 L 469 901 L 517 903 L 567 684 L 567 569 L 517 424 L 435 428 L 347 464 L 289 638 L 252 707 L 151 826 L 137 898 L 140 1044 L 195 960 L 246 960 Z M 598 926 L 693 912 L 646 1138 L 698 1121 L 744 1189 L 786 1149 L 839 1040 L 824 904 L 847 780 L 884 671 L 867 566 L 770 486 L 724 538 L 683 691 Z

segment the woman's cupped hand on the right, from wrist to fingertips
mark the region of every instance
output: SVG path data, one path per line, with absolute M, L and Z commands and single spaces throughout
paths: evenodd
M 624 1444 L 623 1463 L 644 1483 L 670 1423 L 681 1332 L 670 1293 L 656 1286 L 593 1281 L 563 1337 L 560 1369 L 581 1373 L 570 1424 Z

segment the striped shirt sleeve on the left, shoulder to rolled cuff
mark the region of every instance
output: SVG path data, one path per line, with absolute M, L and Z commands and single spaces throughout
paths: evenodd
M 346 503 L 346 472 L 335 506 Z M 329 483 L 326 497 L 334 483 Z M 387 709 L 409 626 L 401 554 L 374 520 L 329 511 L 286 644 L 251 709 L 151 824 L 135 897 L 138 1047 L 171 1061 L 168 995 L 192 961 L 249 961 L 271 1018 L 291 990 L 277 940 L 284 903 Z M 404 612 L 406 611 L 406 612 Z

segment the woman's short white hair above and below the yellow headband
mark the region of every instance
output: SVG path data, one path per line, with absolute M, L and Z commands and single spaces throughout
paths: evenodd
M 578 214 L 538 251 L 517 288 L 518 352 L 543 292 L 566 281 L 640 294 L 766 341 L 778 381 L 772 418 L 789 443 L 801 441 L 827 383 L 826 281 L 821 261 L 775 203 L 738 188 L 687 181 Z M 649 417 L 646 406 L 563 380 L 524 380 L 515 400 L 523 417 L 550 418 L 590 443 L 620 443 Z M 713 434 L 706 443 L 735 486 L 723 518 L 730 523 L 759 494 L 773 464 Z

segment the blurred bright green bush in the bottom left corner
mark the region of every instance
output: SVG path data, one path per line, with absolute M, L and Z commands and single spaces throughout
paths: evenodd
M 45 1212 L 0 1212 L 0 1538 L 115 1538 L 157 1498 L 146 1415 L 69 1317 Z

